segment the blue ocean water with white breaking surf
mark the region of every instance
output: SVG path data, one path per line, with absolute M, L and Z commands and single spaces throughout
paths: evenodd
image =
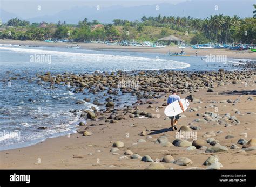
M 48 83 L 38 85 L 36 73 L 91 73 L 98 71 L 131 71 L 173 69 L 186 71 L 234 70 L 240 59 L 205 62 L 195 56 L 167 54 L 93 51 L 57 47 L 19 47 L 0 45 L 0 150 L 29 146 L 49 137 L 76 132 L 79 121 L 69 110 L 90 109 L 92 103 L 75 104 L 83 98 L 97 98 L 102 93 L 74 94 L 61 85 L 49 89 Z M 9 77 L 17 80 L 8 81 Z M 26 78 L 22 78 L 26 77 Z M 29 78 L 29 82 L 28 82 Z M 127 98 L 129 97 L 129 98 Z M 136 97 L 118 95 L 115 98 L 131 104 Z M 97 107 L 97 106 L 95 106 Z M 48 127 L 39 130 L 38 127 Z

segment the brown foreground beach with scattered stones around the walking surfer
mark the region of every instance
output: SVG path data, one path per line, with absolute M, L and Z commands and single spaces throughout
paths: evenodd
M 219 73 L 219 75 L 222 74 Z M 231 73 L 226 76 L 233 75 Z M 241 78 L 237 82 L 233 81 L 233 84 L 232 80 L 228 79 L 223 85 L 214 88 L 212 86 L 214 89 L 212 92 L 207 91 L 210 87 L 202 87 L 203 89 L 198 89 L 196 92 L 180 91 L 178 93 L 181 98 L 191 93 L 194 96 L 193 102 L 191 101 L 189 109 L 182 113 L 183 116 L 179 119 L 177 126 L 178 130 L 183 126 L 183 130 L 185 128 L 188 132 L 196 133 L 196 140 L 200 141 L 197 149 L 191 147 L 193 142 L 191 139 L 181 140 L 184 141 L 184 146 L 176 144 L 178 131 L 169 131 L 170 120 L 164 115 L 165 106 L 162 106 L 170 93 L 160 92 L 161 98 L 138 99 L 138 105 L 132 106 L 132 113 L 134 110 L 141 110 L 150 115 L 145 116 L 140 113 L 137 115 L 139 117 L 136 117 L 127 111 L 125 114 L 122 108 L 115 107 L 116 115 L 125 119 L 112 120 L 113 123 L 110 123 L 110 120 L 99 119 L 99 117 L 110 117 L 113 108 L 101 111 L 100 114 L 96 112 L 96 120 L 87 120 L 85 126 L 78 126 L 77 132 L 82 131 L 81 133 L 48 138 L 29 147 L 1 151 L 0 168 L 145 169 L 149 167 L 152 159 L 157 163 L 154 167 L 158 169 L 163 169 L 161 167 L 206 169 L 209 165 L 203 165 L 203 163 L 211 155 L 217 155 L 218 162 L 223 166 L 220 169 L 255 169 L 256 80 L 253 74 L 250 76 Z M 47 81 L 45 76 L 41 78 Z M 213 112 L 221 120 L 218 123 L 209 120 L 207 112 Z M 194 129 L 192 129 L 193 126 Z M 83 135 L 84 133 L 86 135 Z M 166 142 L 161 143 L 159 138 Z M 238 143 L 239 139 L 244 139 L 244 145 Z M 113 147 L 114 143 L 118 147 Z M 193 145 L 196 146 L 194 143 Z M 224 150 L 220 152 L 212 150 L 220 145 Z M 245 149 L 245 151 L 242 149 L 243 146 L 251 149 Z M 188 147 L 192 150 L 187 150 Z M 149 155 L 151 159 L 148 156 L 146 156 L 147 162 L 131 159 L 134 154 L 142 157 Z M 165 157 L 166 155 L 171 156 Z M 160 162 L 163 157 L 167 162 Z M 184 157 L 187 159 L 180 161 L 185 162 L 184 166 L 172 161 Z M 168 160 L 171 161 L 168 163 Z

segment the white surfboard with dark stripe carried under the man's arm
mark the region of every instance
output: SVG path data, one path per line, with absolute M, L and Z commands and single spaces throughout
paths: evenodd
M 184 111 L 187 110 L 187 107 L 190 105 L 190 102 L 188 102 L 187 99 L 180 99 L 181 103 L 183 105 L 183 109 Z M 165 110 L 164 110 L 164 114 L 166 116 L 176 116 L 178 114 L 182 113 L 182 109 L 179 105 L 178 100 L 174 101 L 173 103 L 169 104 Z

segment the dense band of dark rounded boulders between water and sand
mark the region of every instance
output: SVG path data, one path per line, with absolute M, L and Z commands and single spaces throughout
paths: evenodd
M 252 63 L 253 64 L 253 63 Z M 251 67 L 252 64 L 248 66 Z M 172 70 L 158 70 L 158 71 L 117 71 L 112 73 L 98 72 L 94 74 L 37 74 L 40 78 L 38 84 L 49 82 L 50 88 L 55 88 L 55 85 L 63 85 L 73 93 L 87 93 L 99 94 L 105 96 L 105 102 L 100 103 L 95 99 L 92 101 L 97 106 L 105 106 L 99 111 L 95 107 L 91 110 L 74 110 L 70 111 L 73 114 L 80 112 L 81 118 L 89 120 L 105 120 L 106 123 L 118 123 L 119 120 L 125 118 L 134 118 L 139 116 L 146 116 L 149 118 L 157 117 L 157 114 L 147 113 L 137 109 L 138 105 L 149 104 L 152 107 L 156 103 L 152 99 L 161 98 L 172 90 L 177 90 L 178 93 L 187 93 L 187 99 L 193 101 L 193 93 L 199 92 L 202 89 L 207 89 L 208 92 L 214 92 L 214 88 L 229 84 L 238 84 L 244 82 L 246 79 L 252 78 L 255 75 L 255 70 L 246 71 L 172 71 Z M 121 101 L 115 96 L 119 94 L 130 94 L 136 96 L 137 101 L 132 105 L 124 105 L 120 109 Z M 151 100 L 150 100 L 151 99 Z M 91 102 L 90 98 L 77 100 L 76 104 L 84 102 Z M 158 109 L 166 106 L 166 103 L 159 104 Z M 119 114 L 118 114 L 119 113 Z M 110 114 L 106 117 L 106 114 Z

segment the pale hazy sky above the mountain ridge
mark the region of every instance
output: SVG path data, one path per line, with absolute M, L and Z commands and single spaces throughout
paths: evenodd
M 53 15 L 61 10 L 76 6 L 139 6 L 160 3 L 177 4 L 188 0 L 1 0 L 0 8 L 11 13 L 31 18 L 42 15 Z M 38 11 L 38 6 L 41 10 Z

